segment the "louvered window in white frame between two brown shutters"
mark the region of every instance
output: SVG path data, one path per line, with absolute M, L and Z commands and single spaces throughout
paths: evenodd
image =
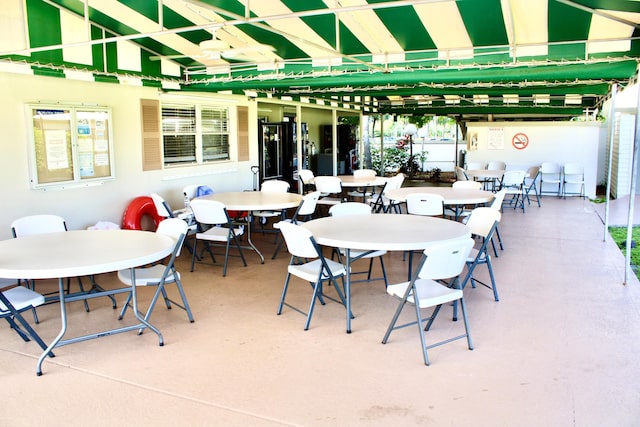
M 163 104 L 162 141 L 165 166 L 229 160 L 229 110 Z

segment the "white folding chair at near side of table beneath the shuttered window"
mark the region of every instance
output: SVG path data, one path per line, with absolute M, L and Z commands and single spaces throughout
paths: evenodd
M 215 200 L 207 200 L 202 198 L 196 198 L 191 202 L 191 209 L 193 215 L 198 223 L 198 232 L 196 233 L 196 239 L 193 245 L 193 254 L 191 257 L 191 271 L 193 271 L 196 262 L 196 249 L 198 241 L 201 240 L 209 255 L 211 261 L 216 262 L 215 256 L 211 251 L 212 246 L 224 246 L 224 267 L 222 269 L 222 276 L 227 275 L 227 264 L 229 262 L 229 248 L 231 242 L 238 249 L 239 256 L 242 258 L 242 263 L 247 266 L 247 261 L 244 258 L 242 247 L 238 241 L 238 236 L 244 234 L 243 227 L 234 227 L 224 204 Z M 208 228 L 207 228 L 208 227 Z

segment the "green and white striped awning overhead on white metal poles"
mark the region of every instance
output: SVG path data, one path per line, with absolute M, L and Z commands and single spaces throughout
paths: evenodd
M 8 3 L 0 70 L 365 112 L 579 115 L 640 58 L 637 0 Z

